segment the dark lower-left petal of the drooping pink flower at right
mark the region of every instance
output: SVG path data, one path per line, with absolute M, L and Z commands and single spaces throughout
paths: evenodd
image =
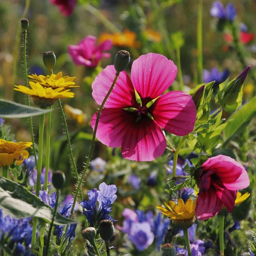
M 195 215 L 200 221 L 216 216 L 222 209 L 222 201 L 218 198 L 214 189 L 209 189 L 203 193 L 199 192 L 196 201 Z

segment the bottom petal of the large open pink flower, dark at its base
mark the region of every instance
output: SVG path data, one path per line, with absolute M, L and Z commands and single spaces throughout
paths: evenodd
M 124 158 L 135 161 L 152 161 L 162 155 L 166 141 L 162 129 L 148 117 L 129 123 L 121 144 Z

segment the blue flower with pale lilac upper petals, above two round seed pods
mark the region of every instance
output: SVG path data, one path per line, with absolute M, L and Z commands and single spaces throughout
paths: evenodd
M 81 206 L 86 209 L 83 214 L 87 218 L 91 227 L 97 227 L 101 220 L 114 221 L 113 216 L 108 215 L 111 212 L 110 206 L 117 196 L 115 185 L 107 185 L 105 182 L 99 186 L 100 190 L 89 190 L 88 200 L 80 202 Z M 98 203 L 97 203 L 98 202 Z

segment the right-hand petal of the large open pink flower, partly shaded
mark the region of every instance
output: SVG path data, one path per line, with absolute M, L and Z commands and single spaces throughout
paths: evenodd
M 193 131 L 196 118 L 195 103 L 189 94 L 172 91 L 154 103 L 155 121 L 168 132 L 183 136 Z

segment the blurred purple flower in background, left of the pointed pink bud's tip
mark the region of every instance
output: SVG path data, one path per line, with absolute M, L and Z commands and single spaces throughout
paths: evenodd
M 221 84 L 229 77 L 229 70 L 225 69 L 223 72 L 220 72 L 217 67 L 211 68 L 210 71 L 203 69 L 202 71 L 202 81 L 204 83 L 209 83 L 215 81 L 216 85 Z

